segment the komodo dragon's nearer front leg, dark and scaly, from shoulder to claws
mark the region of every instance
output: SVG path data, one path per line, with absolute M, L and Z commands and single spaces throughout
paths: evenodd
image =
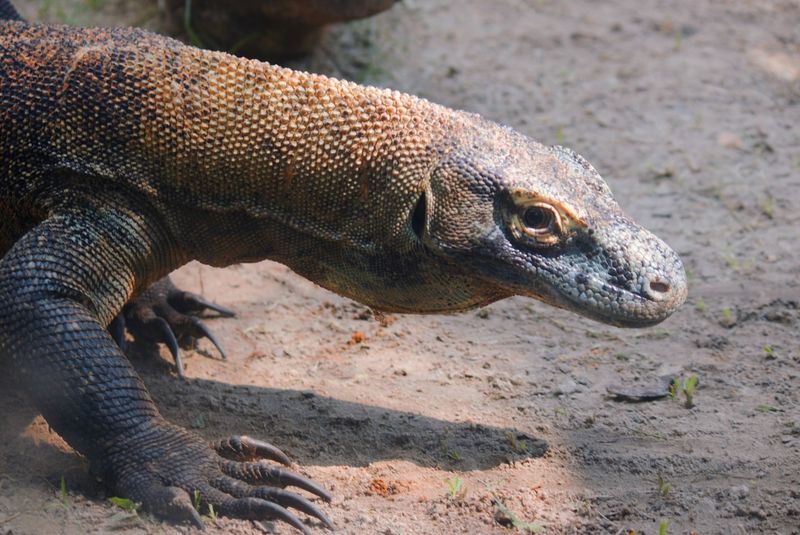
M 50 426 L 85 455 L 118 495 L 158 516 L 202 525 L 193 503 L 222 515 L 279 519 L 307 532 L 286 507 L 327 517 L 295 486 L 330 496 L 274 447 L 235 437 L 212 447 L 159 414 L 106 330 L 139 285 L 182 258 L 142 207 L 59 210 L 0 260 L 0 357 L 11 359 Z

